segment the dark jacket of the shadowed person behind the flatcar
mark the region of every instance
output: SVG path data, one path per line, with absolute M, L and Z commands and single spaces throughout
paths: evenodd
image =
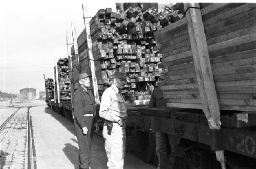
M 158 86 L 156 86 L 152 92 L 148 107 L 166 107 L 166 103 L 163 98 L 163 91 L 160 90 Z

